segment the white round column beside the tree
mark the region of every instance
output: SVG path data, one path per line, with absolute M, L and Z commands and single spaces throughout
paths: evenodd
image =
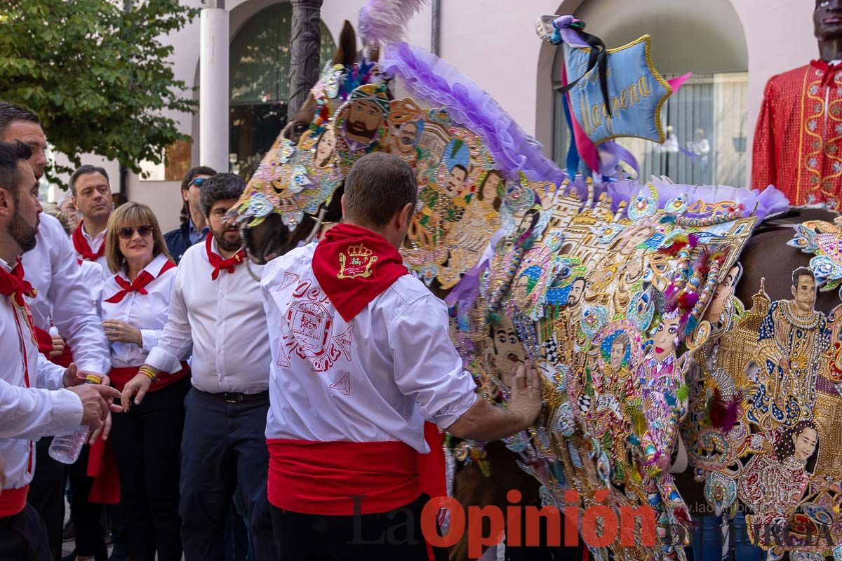
M 199 164 L 228 171 L 228 12 L 206 0 L 201 14 Z

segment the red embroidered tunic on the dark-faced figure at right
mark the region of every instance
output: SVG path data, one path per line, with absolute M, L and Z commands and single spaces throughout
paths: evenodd
M 842 65 L 811 61 L 770 78 L 754 132 L 752 187 L 791 204 L 842 199 Z

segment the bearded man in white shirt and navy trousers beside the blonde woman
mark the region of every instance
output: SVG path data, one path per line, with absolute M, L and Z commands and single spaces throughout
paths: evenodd
M 239 232 L 225 219 L 245 186 L 233 173 L 217 173 L 202 185 L 211 236 L 184 252 L 167 325 L 140 369 L 147 378 L 126 384 L 122 395 L 127 408 L 141 403 L 153 381 L 193 347 L 179 504 L 187 561 L 222 558 L 235 491 L 257 558 L 276 558 L 266 496 L 271 352 L 258 280 L 263 267 L 243 265 Z

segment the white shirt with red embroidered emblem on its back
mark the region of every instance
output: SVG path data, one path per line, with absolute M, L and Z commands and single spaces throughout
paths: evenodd
M 267 438 L 401 441 L 424 419 L 453 424 L 477 400 L 448 335 L 447 307 L 403 275 L 346 322 L 312 272 L 316 243 L 269 262 L 261 283 L 272 369 Z

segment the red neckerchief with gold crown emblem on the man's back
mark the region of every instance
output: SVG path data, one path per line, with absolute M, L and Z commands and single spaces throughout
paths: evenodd
M 324 294 L 345 321 L 353 320 L 408 273 L 392 244 L 353 224 L 335 225 L 325 232 L 313 253 L 312 267 Z

